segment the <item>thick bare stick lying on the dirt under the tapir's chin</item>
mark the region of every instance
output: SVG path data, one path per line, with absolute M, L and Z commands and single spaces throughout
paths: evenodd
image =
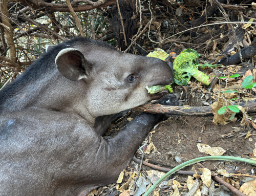
M 256 111 L 256 101 L 248 101 L 240 103 L 245 107 L 247 113 Z M 151 113 L 151 114 L 165 114 L 177 116 L 214 116 L 212 114 L 211 106 L 169 106 L 161 104 L 144 104 L 134 107 L 133 111 Z

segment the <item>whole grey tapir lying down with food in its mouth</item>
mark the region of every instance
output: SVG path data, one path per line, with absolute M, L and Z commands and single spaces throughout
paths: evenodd
M 0 195 L 87 195 L 113 183 L 160 116 L 142 114 L 115 137 L 116 113 L 157 99 L 160 59 L 77 37 L 53 47 L 0 91 Z

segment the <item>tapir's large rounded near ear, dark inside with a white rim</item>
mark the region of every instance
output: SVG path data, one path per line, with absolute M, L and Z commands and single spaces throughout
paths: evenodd
M 89 75 L 90 63 L 74 48 L 61 50 L 55 58 L 58 71 L 70 80 L 80 80 Z

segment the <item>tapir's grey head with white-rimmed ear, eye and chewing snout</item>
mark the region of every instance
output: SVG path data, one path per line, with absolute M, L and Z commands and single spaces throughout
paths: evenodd
M 121 53 L 103 42 L 89 40 L 61 50 L 58 71 L 77 81 L 81 107 L 97 117 L 119 113 L 165 94 L 148 94 L 145 86 L 173 81 L 168 64 L 160 59 Z

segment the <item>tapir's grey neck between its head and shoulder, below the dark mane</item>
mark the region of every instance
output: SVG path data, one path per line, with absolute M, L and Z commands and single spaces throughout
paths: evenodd
M 3 112 L 20 110 L 68 112 L 81 116 L 93 126 L 96 117 L 90 114 L 87 106 L 81 102 L 81 100 L 86 100 L 87 86 L 83 83 L 82 80 L 71 81 L 60 75 L 57 70 L 53 71 L 47 77 L 40 77 L 24 84 L 23 88 L 17 89 L 19 92 L 16 92 L 15 96 L 6 99 Z

